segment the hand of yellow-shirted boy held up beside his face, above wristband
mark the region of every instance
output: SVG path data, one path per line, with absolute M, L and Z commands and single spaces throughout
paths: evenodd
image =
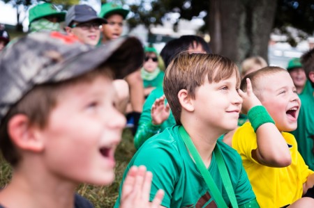
M 239 95 L 243 99 L 241 112 L 247 114 L 254 106 L 261 106 L 260 99 L 253 93 L 252 83 L 250 79 L 246 79 L 246 92 L 239 89 Z

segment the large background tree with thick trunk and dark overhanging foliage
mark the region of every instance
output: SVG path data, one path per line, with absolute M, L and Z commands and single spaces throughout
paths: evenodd
M 143 10 L 145 3 L 130 6 L 135 13 L 131 26 L 159 24 L 169 12 L 179 13 L 181 19 L 206 13 L 202 31 L 210 33 L 213 51 L 237 63 L 254 55 L 267 60 L 269 36 L 275 28 L 287 34 L 292 45 L 296 40 L 287 26 L 314 31 L 314 0 L 153 0 L 151 9 Z

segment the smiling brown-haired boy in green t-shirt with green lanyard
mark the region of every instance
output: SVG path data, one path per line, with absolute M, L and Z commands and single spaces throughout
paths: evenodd
M 239 83 L 237 65 L 223 56 L 182 53 L 174 58 L 165 72 L 164 91 L 177 125 L 146 141 L 125 175 L 130 166 L 147 166 L 154 173 L 151 196 L 158 189 L 165 191 L 162 207 L 236 207 L 234 203 L 259 207 L 239 154 L 218 141 L 220 135 L 237 127 L 242 103 Z M 218 195 L 205 183 L 186 141 L 195 145 Z M 219 155 L 225 171 L 218 170 Z M 225 178 L 230 179 L 232 193 L 223 185 Z M 120 200 L 119 196 L 115 207 Z

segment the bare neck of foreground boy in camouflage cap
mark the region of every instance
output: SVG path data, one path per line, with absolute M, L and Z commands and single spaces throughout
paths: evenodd
M 10 184 L 0 191 L 1 205 L 8 208 L 74 207 L 76 186 L 73 183 L 54 180 L 49 174 L 29 170 L 32 170 L 31 173 L 25 173 L 19 168 L 13 173 Z

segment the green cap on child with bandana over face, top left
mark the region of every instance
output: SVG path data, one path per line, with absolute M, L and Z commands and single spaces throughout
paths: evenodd
M 29 10 L 29 24 L 36 19 L 52 15 L 57 16 L 60 22 L 64 21 L 66 18 L 66 13 L 61 12 L 52 3 L 40 3 Z

